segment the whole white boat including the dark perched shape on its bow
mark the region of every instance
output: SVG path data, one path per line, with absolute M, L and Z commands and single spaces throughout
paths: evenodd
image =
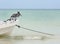
M 6 21 L 0 21 L 0 35 L 10 35 L 13 28 L 17 25 L 20 12 L 12 14 Z

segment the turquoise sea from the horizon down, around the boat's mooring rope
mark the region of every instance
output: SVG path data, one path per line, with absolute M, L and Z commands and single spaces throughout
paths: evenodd
M 19 25 L 51 34 L 60 34 L 60 10 L 0 10 L 0 20 L 8 19 L 13 13 L 21 12 Z M 38 33 L 15 28 L 14 35 L 39 35 Z

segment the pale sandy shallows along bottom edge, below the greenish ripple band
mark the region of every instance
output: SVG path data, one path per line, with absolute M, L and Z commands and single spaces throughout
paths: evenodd
M 60 40 L 14 40 L 14 39 L 0 39 L 0 44 L 60 44 Z

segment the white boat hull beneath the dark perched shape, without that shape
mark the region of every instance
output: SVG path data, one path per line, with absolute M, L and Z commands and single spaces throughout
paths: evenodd
M 17 21 L 9 21 L 0 25 L 0 35 L 10 35 Z

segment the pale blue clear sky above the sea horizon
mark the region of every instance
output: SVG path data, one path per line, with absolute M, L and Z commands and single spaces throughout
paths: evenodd
M 60 9 L 60 0 L 0 0 L 0 9 Z

